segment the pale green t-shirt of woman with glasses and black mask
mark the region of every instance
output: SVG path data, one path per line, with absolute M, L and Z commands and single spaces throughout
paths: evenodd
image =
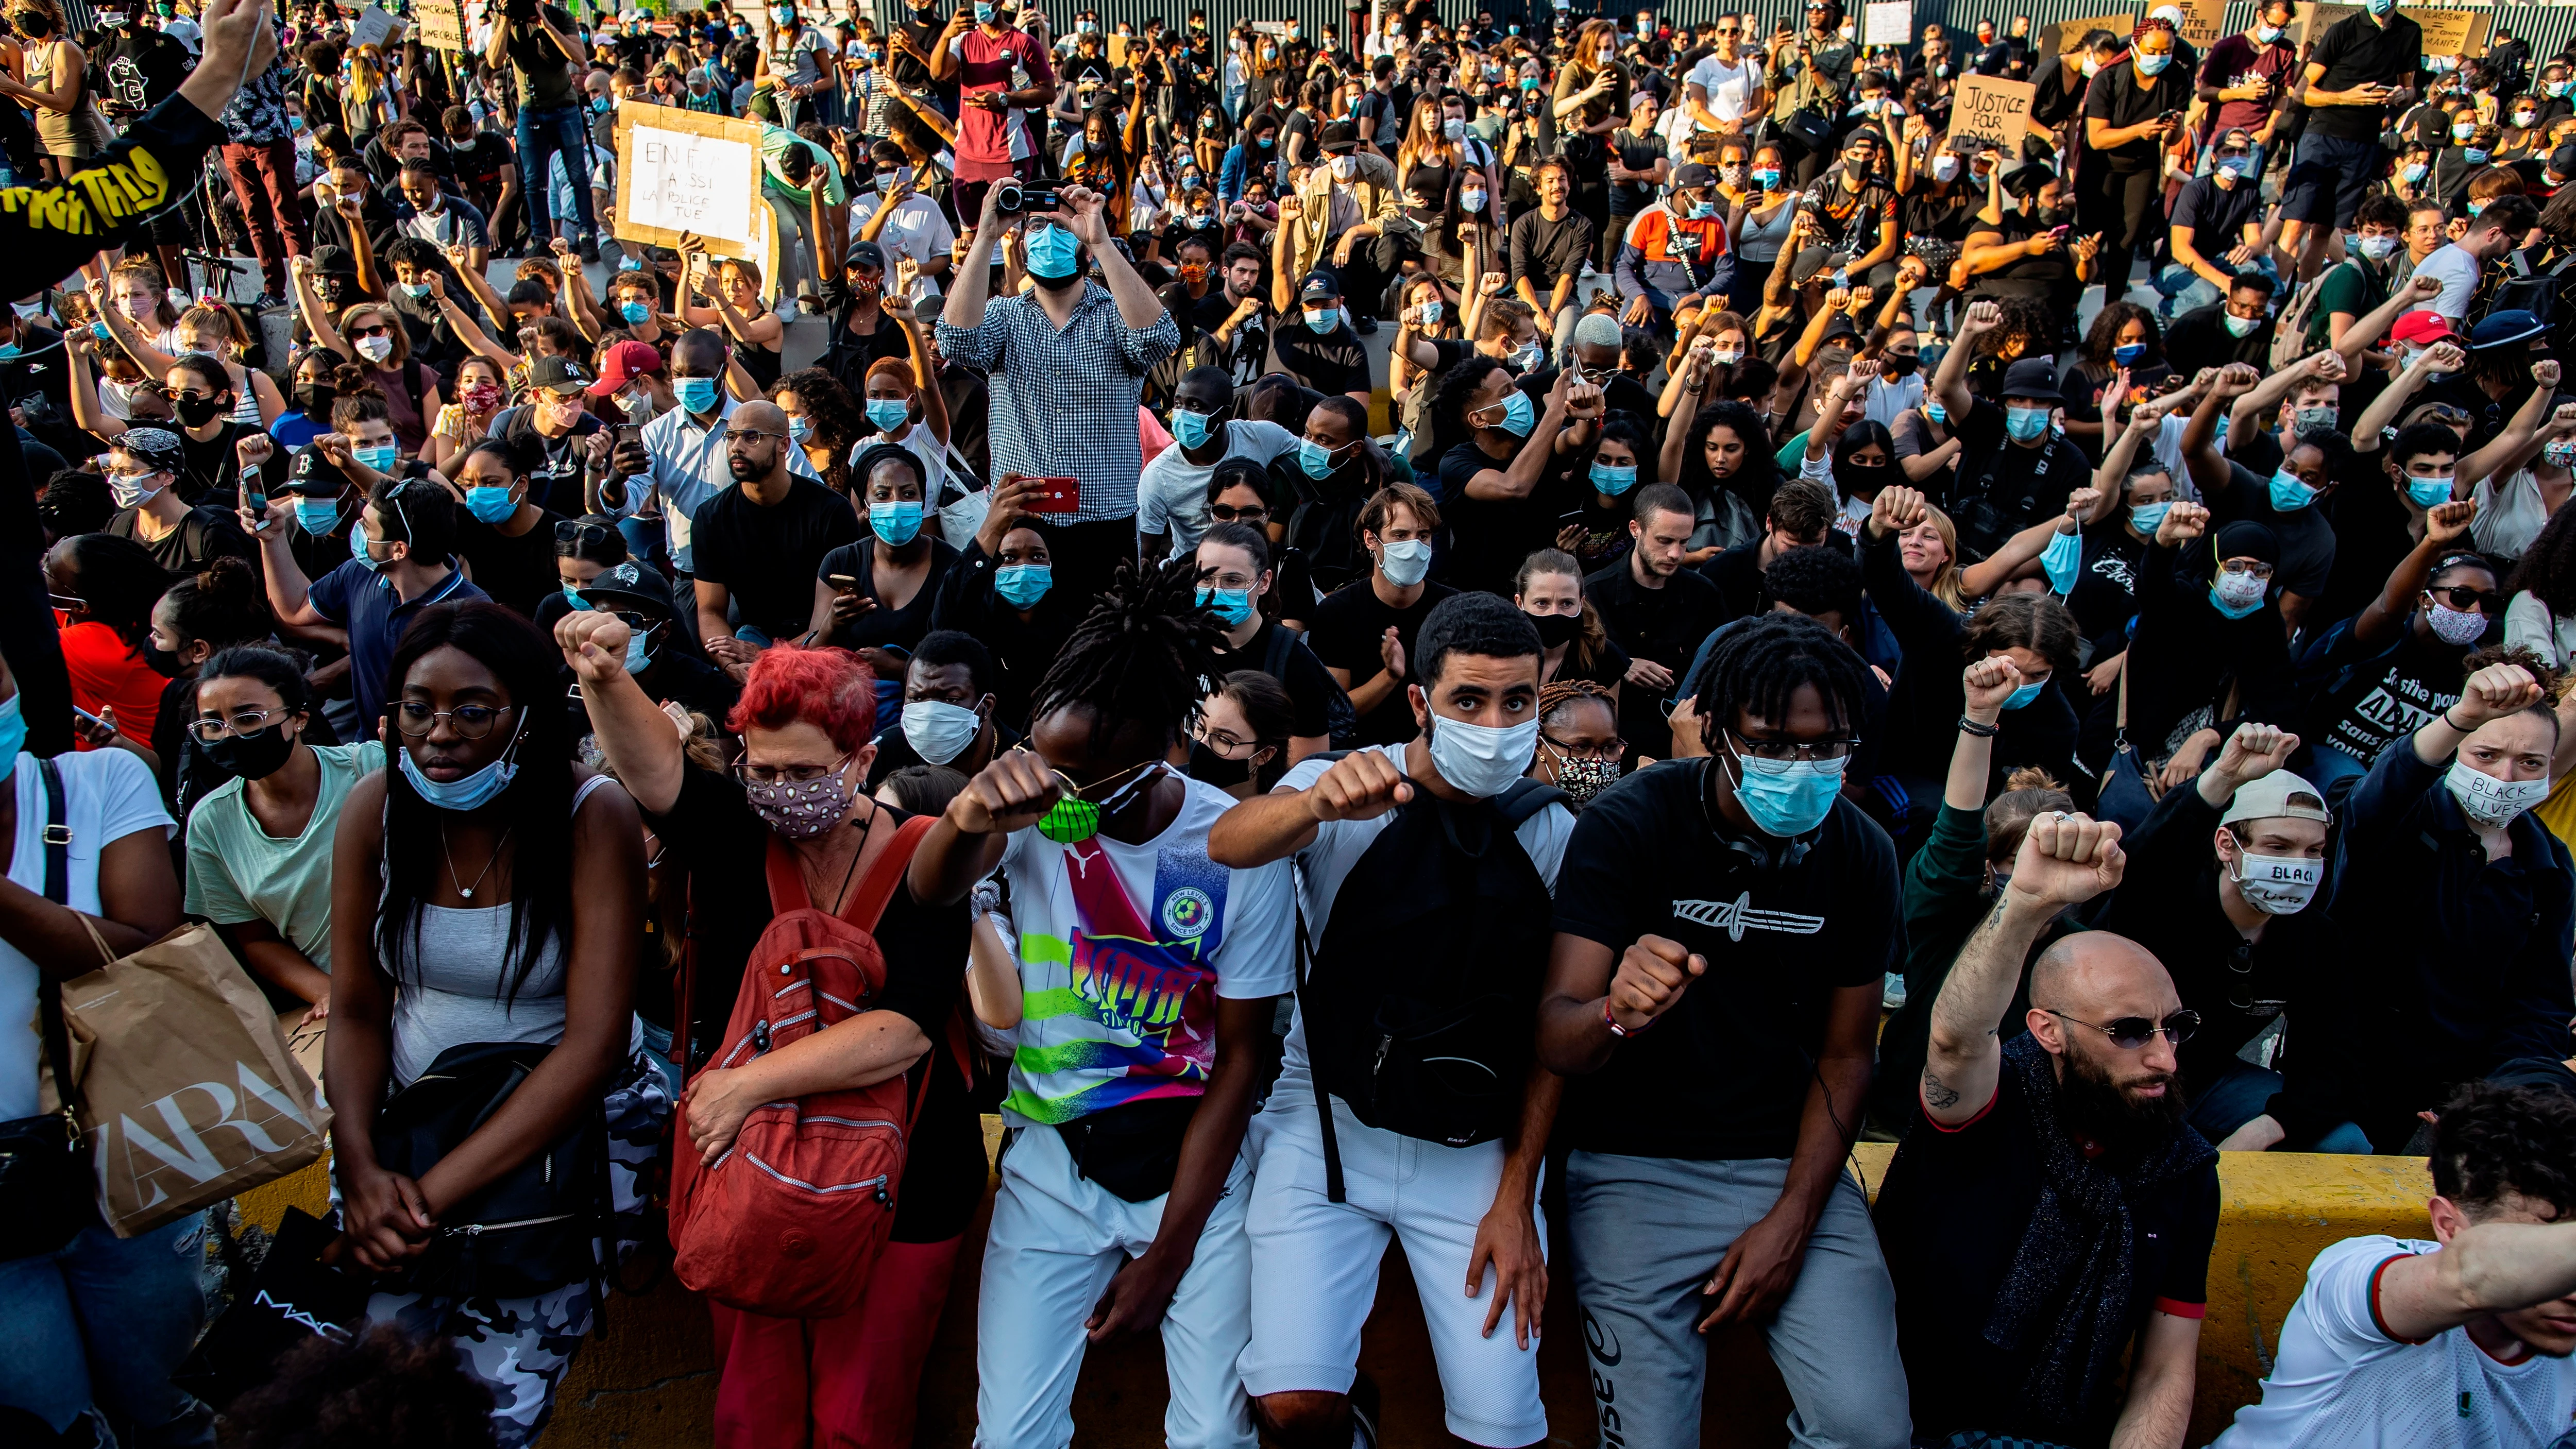
M 265 921 L 304 960 L 330 973 L 330 842 L 348 788 L 366 775 L 374 744 L 317 744 L 322 793 L 296 839 L 276 839 L 250 816 L 242 782 L 227 780 L 188 816 L 188 914 L 219 927 Z

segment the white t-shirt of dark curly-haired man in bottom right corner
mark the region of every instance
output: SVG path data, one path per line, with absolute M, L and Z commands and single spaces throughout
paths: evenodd
M 2499 1364 L 2452 1328 L 2401 1343 L 2378 1315 L 2380 1264 L 2439 1253 L 2414 1238 L 2344 1238 L 2308 1264 L 2280 1325 L 2262 1403 L 2210 1449 L 2543 1449 L 2576 1426 L 2576 1359 Z

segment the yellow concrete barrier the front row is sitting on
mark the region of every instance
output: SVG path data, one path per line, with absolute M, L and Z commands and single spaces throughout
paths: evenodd
M 987 1120 L 992 1127 L 992 1120 Z M 1860 1143 L 1855 1161 L 1873 1192 L 1893 1148 Z M 2210 1253 L 2210 1313 L 2200 1331 L 2200 1390 L 2187 1444 L 2208 1444 L 2239 1405 L 2259 1395 L 2280 1325 L 2321 1248 L 2357 1233 L 2421 1235 L 2432 1192 L 2424 1158 L 2339 1158 L 2306 1153 L 2226 1153 L 2218 1163 L 2218 1248 Z M 242 1217 L 273 1225 L 289 1204 L 325 1207 L 322 1168 L 242 1194 Z M 958 1253 L 948 1310 L 922 1374 L 914 1444 L 963 1446 L 974 1439 L 974 1310 L 984 1266 L 992 1199 Z M 1713 1266 L 1713 1264 L 1710 1264 Z M 1455 1292 L 1435 1284 L 1435 1292 Z M 1584 1380 L 1582 1315 L 1558 1266 L 1548 1287 L 1546 1336 L 1538 1356 L 1548 1403 L 1548 1444 L 1595 1444 L 1592 1395 Z M 1440 1380 L 1432 1369 L 1422 1307 L 1401 1248 L 1388 1248 L 1378 1307 L 1360 1346 L 1360 1369 L 1383 1392 L 1386 1444 L 1440 1444 Z M 1788 1441 L 1788 1390 L 1770 1367 L 1762 1338 L 1736 1328 L 1710 1338 L 1710 1392 L 1700 1444 L 1754 1449 Z M 1162 1346 L 1128 1341 L 1095 1351 L 1074 1392 L 1082 1449 L 1154 1449 L 1162 1444 Z M 706 1307 L 670 1277 L 636 1297 L 611 1300 L 608 1328 L 582 1346 L 556 1400 L 546 1449 L 698 1449 L 711 1441 L 716 1369 Z

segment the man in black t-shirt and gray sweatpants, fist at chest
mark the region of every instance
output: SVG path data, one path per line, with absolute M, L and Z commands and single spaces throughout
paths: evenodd
M 1749 1323 L 1811 1441 L 1909 1444 L 1896 1297 L 1842 1171 L 1904 942 L 1896 849 L 1842 798 L 1868 664 L 1759 615 L 1687 703 L 1705 754 L 1577 816 L 1540 996 L 1595 1405 L 1628 1444 L 1698 1441 L 1700 1333 Z

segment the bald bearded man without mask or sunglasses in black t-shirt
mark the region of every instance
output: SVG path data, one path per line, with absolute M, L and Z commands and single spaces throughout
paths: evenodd
M 806 631 L 822 556 L 866 535 L 850 499 L 788 471 L 793 453 L 778 404 L 737 407 L 724 425 L 734 486 L 698 504 L 690 525 L 698 638 L 734 679 L 752 672 L 762 649 Z

